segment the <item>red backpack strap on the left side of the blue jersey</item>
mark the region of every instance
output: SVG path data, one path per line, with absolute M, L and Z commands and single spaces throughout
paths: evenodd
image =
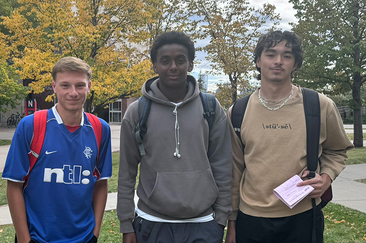
M 40 156 L 43 142 L 45 141 L 46 126 L 47 126 L 47 112 L 48 110 L 40 110 L 34 113 L 33 117 L 33 139 L 31 142 L 31 153 L 29 153 L 29 172 L 23 178 L 25 181 L 23 188 L 28 185 L 29 175 Z

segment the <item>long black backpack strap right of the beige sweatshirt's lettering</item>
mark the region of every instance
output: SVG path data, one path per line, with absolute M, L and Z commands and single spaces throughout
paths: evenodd
M 304 103 L 306 122 L 306 157 L 307 169 L 310 171 L 309 179 L 315 177 L 315 170 L 318 167 L 319 138 L 320 138 L 320 102 L 316 91 L 302 88 L 302 99 Z M 316 203 L 315 198 L 311 199 L 313 206 L 313 228 L 312 242 L 316 242 Z

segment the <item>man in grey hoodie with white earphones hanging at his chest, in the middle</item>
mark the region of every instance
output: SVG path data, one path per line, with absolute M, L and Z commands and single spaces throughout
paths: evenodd
M 122 120 L 117 213 L 123 242 L 222 242 L 231 213 L 232 152 L 225 112 L 216 100 L 211 129 L 193 70 L 194 43 L 166 32 L 152 45 L 158 77 L 142 94 L 151 100 L 141 156 L 132 134 L 138 101 Z M 138 164 L 138 203 L 134 187 Z

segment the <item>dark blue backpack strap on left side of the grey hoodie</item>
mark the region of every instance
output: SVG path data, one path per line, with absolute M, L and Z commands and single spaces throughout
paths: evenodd
M 145 149 L 143 147 L 143 135 L 146 133 L 146 120 L 150 112 L 150 105 L 151 100 L 145 96 L 141 96 L 138 99 L 138 118 L 140 121 L 137 123 L 132 133 L 136 138 L 141 156 L 145 155 Z

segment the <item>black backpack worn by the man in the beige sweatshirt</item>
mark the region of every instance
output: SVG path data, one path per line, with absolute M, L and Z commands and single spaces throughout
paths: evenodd
M 316 91 L 301 88 L 304 112 L 305 112 L 305 123 L 306 123 L 306 152 L 307 152 L 307 169 L 309 172 L 309 179 L 315 177 L 315 170 L 318 167 L 318 153 L 319 153 L 319 138 L 320 138 L 320 102 L 319 95 Z M 231 111 L 231 123 L 234 131 L 239 137 L 242 143 L 242 150 L 244 153 L 245 144 L 243 144 L 240 136 L 240 128 L 243 123 L 244 113 L 248 105 L 250 95 L 244 96 L 237 100 Z M 324 207 L 332 199 L 332 188 L 331 185 L 321 195 L 320 206 Z M 312 228 L 312 242 L 316 242 L 315 235 L 315 215 L 316 215 L 316 204 L 315 198 L 311 199 L 313 206 L 313 228 Z

